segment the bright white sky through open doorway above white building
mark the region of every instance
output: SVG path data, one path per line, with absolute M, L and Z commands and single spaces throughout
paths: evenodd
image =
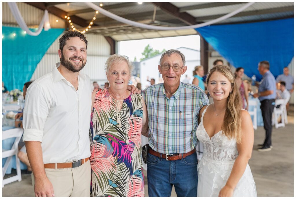
M 136 56 L 137 61 L 143 57 L 141 54 L 144 51 L 145 46 L 150 44 L 154 50 L 162 51 L 176 49 L 179 47 L 187 47 L 195 50 L 200 50 L 200 36 L 199 35 L 189 35 L 189 36 L 179 36 L 179 37 L 165 37 L 156 39 L 141 39 L 132 41 L 120 41 L 118 42 L 118 53 L 126 55 L 133 61 Z

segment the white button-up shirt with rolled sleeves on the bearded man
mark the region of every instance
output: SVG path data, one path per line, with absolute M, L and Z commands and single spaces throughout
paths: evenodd
M 35 80 L 27 90 L 24 141 L 41 142 L 43 161 L 64 163 L 90 157 L 91 93 L 89 76 L 78 75 L 78 90 L 58 71 Z

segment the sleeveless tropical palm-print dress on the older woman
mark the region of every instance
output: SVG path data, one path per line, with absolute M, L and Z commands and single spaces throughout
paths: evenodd
M 117 123 L 115 100 L 108 88 L 96 92 L 89 130 L 91 197 L 144 197 L 141 160 L 142 98 L 124 99 Z

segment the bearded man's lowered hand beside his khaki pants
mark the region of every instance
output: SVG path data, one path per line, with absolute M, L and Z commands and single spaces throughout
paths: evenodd
M 54 188 L 47 177 L 35 178 L 34 192 L 36 197 L 54 197 Z

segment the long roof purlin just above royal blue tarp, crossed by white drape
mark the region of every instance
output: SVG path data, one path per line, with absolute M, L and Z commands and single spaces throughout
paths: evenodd
M 247 12 L 240 12 L 232 17 L 246 17 L 252 15 L 260 15 L 260 14 L 272 14 L 272 13 L 279 13 L 279 12 L 291 12 L 294 11 L 294 6 L 286 6 L 286 7 L 279 7 L 279 8 L 270 8 L 270 9 L 261 9 L 261 10 L 252 10 Z M 224 16 L 225 14 L 216 14 L 216 15 L 209 15 L 204 17 L 196 17 L 195 21 L 200 22 L 203 20 L 213 20 L 219 17 Z

